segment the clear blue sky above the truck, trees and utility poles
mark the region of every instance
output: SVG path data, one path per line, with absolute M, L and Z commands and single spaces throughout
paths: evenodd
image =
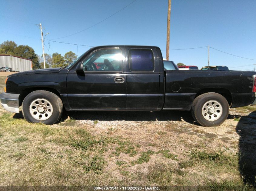
M 31 46 L 42 55 L 42 23 L 45 53 L 77 54 L 78 43 L 100 45 L 152 45 L 166 49 L 168 0 L 95 0 L 95 1 L 5 1 L 0 0 L 0 43 L 13 40 Z M 133 2 L 128 7 L 128 4 Z M 120 9 L 117 14 L 100 24 Z M 243 59 L 210 49 L 210 65 L 226 65 L 231 69 L 251 70 L 256 64 L 255 0 L 172 0 L 170 49 L 210 46 Z M 16 20 L 15 20 L 16 19 Z M 83 29 L 81 33 L 64 37 Z M 90 47 L 78 46 L 78 55 Z M 165 58 L 165 51 L 162 51 Z M 175 63 L 197 65 L 208 63 L 208 49 L 171 50 Z M 248 66 L 245 66 L 248 65 Z M 239 68 L 237 68 L 239 67 Z

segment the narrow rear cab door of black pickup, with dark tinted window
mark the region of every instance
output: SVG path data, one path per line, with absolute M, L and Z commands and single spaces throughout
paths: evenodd
M 126 109 L 158 110 L 159 65 L 155 47 L 125 46 Z

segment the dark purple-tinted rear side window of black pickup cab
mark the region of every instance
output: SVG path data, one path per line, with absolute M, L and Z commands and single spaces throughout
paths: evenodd
M 154 56 L 149 49 L 129 49 L 130 70 L 134 72 L 154 71 Z

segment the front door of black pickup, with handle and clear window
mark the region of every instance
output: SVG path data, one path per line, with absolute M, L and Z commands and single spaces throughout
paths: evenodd
M 92 51 L 83 59 L 84 74 L 73 67 L 67 75 L 71 110 L 114 110 L 126 107 L 124 46 Z

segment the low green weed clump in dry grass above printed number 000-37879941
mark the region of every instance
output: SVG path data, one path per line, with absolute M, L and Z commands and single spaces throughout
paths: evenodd
M 86 173 L 94 172 L 95 174 L 100 174 L 105 166 L 106 161 L 99 155 L 95 155 L 93 158 L 88 160 L 88 164 L 83 166 Z

